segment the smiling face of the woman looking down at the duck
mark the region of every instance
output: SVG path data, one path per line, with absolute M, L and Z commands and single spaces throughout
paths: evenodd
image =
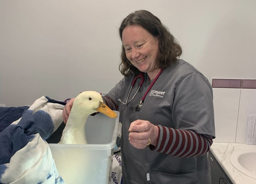
M 122 32 L 122 41 L 127 59 L 141 72 L 154 77 L 158 56 L 158 38 L 140 25 L 129 25 Z M 152 79 L 152 77 L 150 77 Z

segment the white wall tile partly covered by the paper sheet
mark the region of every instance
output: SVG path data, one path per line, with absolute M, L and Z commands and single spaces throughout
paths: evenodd
M 256 114 L 256 89 L 241 89 L 236 136 L 237 143 L 246 143 L 249 114 Z

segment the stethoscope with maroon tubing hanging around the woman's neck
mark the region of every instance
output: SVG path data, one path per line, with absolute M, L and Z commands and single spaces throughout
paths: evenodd
M 156 80 L 158 79 L 159 75 L 162 73 L 163 70 L 164 70 L 164 69 L 162 68 L 162 69 L 159 71 L 159 73 L 158 73 L 157 76 L 155 77 L 154 81 L 153 81 L 153 82 L 150 84 L 150 86 L 148 87 L 146 93 L 144 94 L 144 96 L 142 97 L 142 99 L 140 100 L 140 102 L 138 102 L 138 104 L 136 104 L 136 111 L 140 111 L 140 110 L 141 110 L 141 108 L 142 108 L 142 106 L 143 106 L 143 103 L 144 103 L 144 100 L 145 100 L 145 98 L 146 98 L 148 92 L 150 91 L 151 87 L 154 85 L 154 83 L 156 82 Z M 143 82 L 144 82 L 144 75 L 143 75 L 143 74 L 144 74 L 144 73 L 141 72 L 140 74 L 138 74 L 138 75 L 133 79 L 131 89 L 130 89 L 129 94 L 128 94 L 127 99 L 126 99 L 126 103 L 122 102 L 121 99 L 118 99 L 119 102 L 121 102 L 122 104 L 125 104 L 125 105 L 127 105 L 127 104 L 129 104 L 129 103 L 132 102 L 133 98 L 136 96 L 136 94 L 138 93 L 138 90 L 140 89 L 140 87 L 142 86 L 142 84 L 143 84 Z M 135 93 L 135 95 L 132 97 L 132 99 L 128 101 L 128 99 L 129 99 L 129 97 L 130 97 L 130 93 L 131 93 L 131 91 L 132 91 L 132 87 L 134 86 L 134 84 L 135 84 L 135 82 L 137 81 L 137 79 L 140 78 L 140 77 L 141 77 L 141 82 L 140 82 L 140 85 L 139 85 L 139 87 L 138 87 L 138 90 L 136 91 L 136 93 Z

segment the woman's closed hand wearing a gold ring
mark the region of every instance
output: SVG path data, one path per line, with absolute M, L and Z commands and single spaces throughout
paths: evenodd
M 146 148 L 149 143 L 148 139 L 150 139 L 152 145 L 156 146 L 158 128 L 149 121 L 135 120 L 131 123 L 129 132 L 129 141 L 135 148 Z

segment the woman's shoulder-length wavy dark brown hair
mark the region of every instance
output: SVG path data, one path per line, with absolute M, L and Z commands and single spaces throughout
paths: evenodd
M 121 41 L 123 30 L 129 25 L 140 25 L 154 37 L 158 37 L 159 53 L 155 68 L 169 67 L 182 54 L 182 48 L 179 42 L 169 32 L 168 28 L 151 12 L 147 10 L 137 10 L 125 17 L 119 28 Z M 127 59 L 123 45 L 119 70 L 124 76 L 129 76 L 132 73 L 138 74 L 140 72 Z

